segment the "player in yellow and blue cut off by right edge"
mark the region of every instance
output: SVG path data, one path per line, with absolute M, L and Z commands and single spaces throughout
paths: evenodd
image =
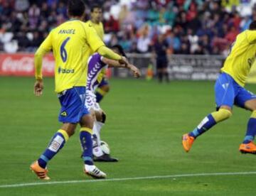
M 233 105 L 252 111 L 247 124 L 244 141 L 239 147 L 241 153 L 256 153 L 252 141 L 256 134 L 256 95 L 247 91 L 245 80 L 255 61 L 256 21 L 250 23 L 249 30 L 240 33 L 230 49 L 221 74 L 215 82 L 215 103 L 217 111 L 208 114 L 200 124 L 188 134 L 183 135 L 183 148 L 191 149 L 193 141 L 220 121 L 230 118 Z

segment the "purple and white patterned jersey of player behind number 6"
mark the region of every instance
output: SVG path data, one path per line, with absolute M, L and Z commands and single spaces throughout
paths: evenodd
M 95 53 L 88 59 L 87 86 L 86 89 L 94 92 L 101 81 L 97 80 L 102 69 L 107 65 L 102 62 L 102 56 Z

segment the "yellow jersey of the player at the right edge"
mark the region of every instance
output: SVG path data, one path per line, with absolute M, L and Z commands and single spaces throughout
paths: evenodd
M 226 58 L 221 72 L 231 75 L 242 87 L 250 72 L 256 55 L 256 31 L 245 30 L 238 34 Z

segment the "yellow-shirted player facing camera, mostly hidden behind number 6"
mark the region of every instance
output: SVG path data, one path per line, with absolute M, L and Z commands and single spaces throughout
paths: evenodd
M 103 40 L 104 28 L 101 21 L 102 21 L 102 8 L 100 5 L 94 4 L 91 7 L 90 21 L 87 21 L 87 23 L 90 23 L 90 25 L 92 25 L 95 28 L 97 35 Z M 106 75 L 106 69 L 103 69 L 102 72 L 100 72 L 100 75 L 97 77 L 97 81 L 100 82 L 95 92 L 97 103 L 100 103 L 100 101 L 105 96 L 105 94 L 107 94 L 107 92 L 110 91 L 110 85 L 105 75 Z

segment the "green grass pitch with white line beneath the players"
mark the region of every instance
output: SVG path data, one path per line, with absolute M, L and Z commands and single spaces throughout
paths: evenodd
M 48 165 L 50 183 L 58 184 L 28 186 L 45 183 L 29 165 L 60 127 L 53 79 L 44 80 L 42 97 L 34 97 L 33 81 L 0 77 L 0 195 L 255 194 L 256 157 L 238 152 L 249 111 L 235 108 L 232 118 L 198 138 L 191 152 L 181 146 L 182 134 L 215 109 L 213 82 L 111 80 L 102 101 L 107 112 L 102 140 L 119 163 L 97 163 L 108 180 L 82 173 L 77 129 Z M 255 85 L 247 89 L 256 92 Z

